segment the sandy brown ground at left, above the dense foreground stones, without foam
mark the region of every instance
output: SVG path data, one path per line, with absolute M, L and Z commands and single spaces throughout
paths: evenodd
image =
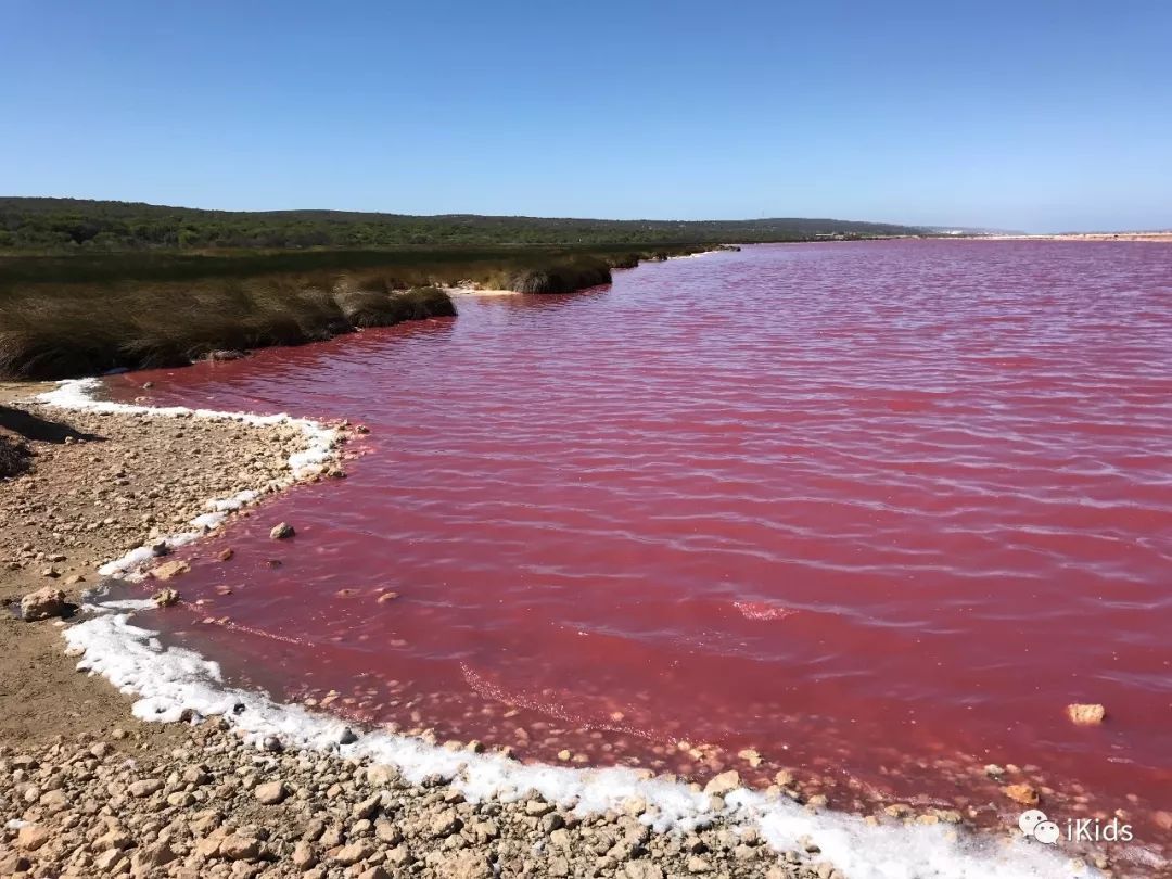
M 144 543 L 152 529 L 182 530 L 207 498 L 280 475 L 298 442 L 287 430 L 14 402 L 28 398 L 28 387 L 0 386 L 0 438 L 30 452 L 25 473 L 0 479 L 0 744 L 134 724 L 127 696 L 73 669 L 63 622 L 25 622 L 12 602 L 47 585 L 77 600 L 100 579 L 98 565 Z M 254 456 L 260 464 L 250 462 Z M 46 575 L 50 570 L 55 577 Z M 159 747 L 175 737 L 159 724 L 142 731 Z

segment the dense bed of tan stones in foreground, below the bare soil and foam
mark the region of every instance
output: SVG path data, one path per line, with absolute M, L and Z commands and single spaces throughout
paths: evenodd
M 841 877 L 817 846 L 779 856 L 752 830 L 656 833 L 638 799 L 579 816 L 536 795 L 469 803 L 449 782 L 258 750 L 217 718 L 170 750 L 121 728 L 0 747 L 0 875 Z

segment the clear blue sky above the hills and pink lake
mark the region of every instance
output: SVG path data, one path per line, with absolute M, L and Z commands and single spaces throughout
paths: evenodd
M 1172 4 L 0 0 L 0 195 L 1172 226 Z

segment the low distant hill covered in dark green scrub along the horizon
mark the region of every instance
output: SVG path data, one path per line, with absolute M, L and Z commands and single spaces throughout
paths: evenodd
M 774 218 L 602 220 L 354 211 L 205 211 L 134 202 L 0 197 L 0 251 L 381 248 L 795 241 L 925 234 L 890 223 Z

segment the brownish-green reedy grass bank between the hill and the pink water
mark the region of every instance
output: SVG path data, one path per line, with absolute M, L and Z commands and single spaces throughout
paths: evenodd
M 621 247 L 77 252 L 0 258 L 0 377 L 188 363 L 455 314 L 438 286 L 568 293 L 611 270 L 703 250 Z

